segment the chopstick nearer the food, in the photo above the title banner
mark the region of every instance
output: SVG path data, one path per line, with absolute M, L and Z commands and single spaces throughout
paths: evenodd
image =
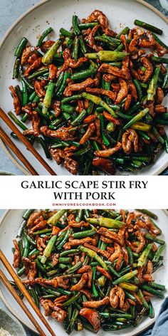
M 56 172 L 51 169 L 51 167 L 47 164 L 47 162 L 41 157 L 41 155 L 36 151 L 36 149 L 31 145 L 30 142 L 24 137 L 24 135 L 21 133 L 21 131 L 14 125 L 14 122 L 11 121 L 8 115 L 1 109 L 0 107 L 0 117 L 1 119 L 6 122 L 6 125 L 8 125 L 11 130 L 19 137 L 19 140 L 23 142 L 23 144 L 29 149 L 29 151 L 38 159 L 38 161 L 42 164 L 44 168 L 51 174 L 51 175 L 56 175 Z

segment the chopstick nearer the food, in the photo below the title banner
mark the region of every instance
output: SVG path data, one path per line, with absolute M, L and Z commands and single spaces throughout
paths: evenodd
M 41 322 L 43 322 L 43 325 L 48 329 L 48 331 L 51 333 L 52 336 L 56 336 L 55 332 L 51 329 L 51 326 L 48 324 L 46 321 L 46 318 L 42 315 L 41 311 L 38 309 L 36 304 L 33 302 L 33 299 L 31 298 L 31 295 L 28 293 L 26 290 L 25 286 L 19 279 L 19 276 L 15 273 L 14 269 L 11 267 L 9 261 L 6 259 L 6 256 L 4 256 L 4 253 L 0 250 L 0 260 L 4 264 L 6 270 L 9 272 L 11 277 L 14 279 L 14 282 L 18 286 L 18 288 L 21 290 L 23 293 L 24 297 L 28 300 L 28 303 L 31 305 L 35 313 L 38 315 L 40 318 Z

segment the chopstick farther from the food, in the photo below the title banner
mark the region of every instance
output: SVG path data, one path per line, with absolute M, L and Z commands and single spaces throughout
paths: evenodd
M 9 283 L 9 280 L 6 278 L 6 276 L 4 275 L 4 273 L 1 270 L 0 270 L 0 280 L 2 281 L 2 283 L 4 283 L 4 285 L 9 290 L 9 292 L 11 293 L 11 295 L 15 298 L 16 302 L 19 303 L 19 305 L 23 309 L 24 313 L 26 313 L 26 315 L 31 320 L 31 322 L 33 323 L 33 325 L 36 327 L 36 329 L 38 330 L 38 332 L 40 332 L 40 335 L 41 336 L 46 336 L 45 332 L 43 332 L 43 330 L 41 329 L 40 325 L 38 325 L 38 322 L 36 321 L 36 319 L 33 317 L 33 315 L 31 314 L 31 312 L 28 310 L 28 308 L 26 307 L 26 305 L 23 303 L 23 300 L 21 300 L 20 296 L 18 295 L 18 293 L 16 292 L 16 290 L 14 290 L 14 288 L 11 285 L 11 283 Z

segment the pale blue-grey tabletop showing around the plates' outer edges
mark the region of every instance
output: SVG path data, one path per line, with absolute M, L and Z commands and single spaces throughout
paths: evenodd
M 39 0 L 0 0 L 0 38 L 4 35 L 6 30 L 11 26 L 24 11 L 28 8 L 40 2 Z M 165 13 L 159 4 L 158 0 L 148 0 L 149 4 Z M 15 165 L 6 157 L 3 149 L 0 147 L 0 170 L 8 171 L 16 175 L 23 174 Z M 4 210 L 0 209 L 0 216 L 4 213 Z M 5 308 L 4 303 L 0 299 L 0 308 Z M 26 330 L 28 336 L 34 336 L 33 332 Z

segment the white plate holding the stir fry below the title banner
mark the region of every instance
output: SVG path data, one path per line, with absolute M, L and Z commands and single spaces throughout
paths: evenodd
M 157 220 L 157 224 L 159 225 L 160 229 L 162 229 L 162 236 L 161 238 L 164 238 L 164 240 L 167 240 L 167 214 L 163 210 L 153 210 L 155 214 L 158 215 L 159 220 Z M 6 214 L 4 214 L 4 217 L 1 219 L 0 223 L 0 247 L 1 250 L 4 252 L 6 258 L 9 260 L 9 262 L 13 263 L 13 254 L 11 252 L 11 247 L 13 246 L 12 240 L 16 237 L 17 231 L 19 229 L 19 226 L 21 224 L 21 216 L 23 215 L 23 210 L 9 210 L 6 211 Z M 2 271 L 7 275 L 6 270 L 4 266 L 1 266 Z M 9 278 L 9 275 L 7 275 Z M 159 269 L 159 271 L 154 273 L 154 280 L 157 283 L 162 283 L 166 286 L 168 290 L 168 249 L 166 248 L 164 251 L 164 266 Z M 4 300 L 4 303 L 7 305 L 7 307 L 11 310 L 11 313 L 14 313 L 16 317 L 21 320 L 25 325 L 27 325 L 31 330 L 35 331 L 33 325 L 28 320 L 28 317 L 22 312 L 19 305 L 16 303 L 14 298 L 12 298 L 11 294 L 6 290 L 3 284 L 0 283 L 0 296 L 2 300 Z M 157 317 L 159 313 L 160 306 L 162 304 L 162 300 L 158 298 L 152 299 L 152 303 L 154 305 L 154 312 L 155 317 Z M 30 308 L 31 313 L 32 309 Z M 34 313 L 33 313 L 34 314 Z M 38 323 L 43 327 L 41 321 L 38 319 Z M 54 321 L 51 317 L 47 317 L 48 322 L 51 324 L 51 327 L 53 330 L 56 330 L 57 336 L 67 336 L 65 333 L 65 330 L 63 329 L 63 326 L 61 323 Z M 142 330 L 145 330 L 149 325 L 152 325 L 154 322 L 154 319 L 150 320 L 148 317 L 146 317 L 138 327 L 136 328 L 129 328 L 124 329 L 117 332 L 103 332 L 103 330 L 100 330 L 98 332 L 98 336 L 103 336 L 103 334 L 107 336 L 133 336 L 137 335 L 139 332 L 142 332 Z M 49 333 L 46 332 L 46 336 L 49 336 Z M 78 332 L 74 331 L 72 333 L 72 336 L 79 336 Z M 85 330 L 82 332 L 82 335 L 85 336 L 93 336 L 92 332 L 89 332 L 88 330 Z

